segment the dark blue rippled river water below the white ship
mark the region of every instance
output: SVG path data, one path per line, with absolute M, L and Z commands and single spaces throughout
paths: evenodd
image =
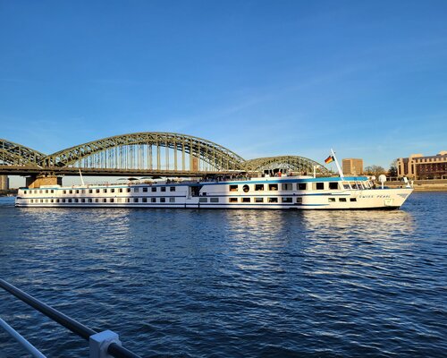
M 395 211 L 16 209 L 0 277 L 144 357 L 447 356 L 447 192 Z M 0 290 L 48 357 L 88 342 Z M 21 348 L 0 332 L 0 356 Z

